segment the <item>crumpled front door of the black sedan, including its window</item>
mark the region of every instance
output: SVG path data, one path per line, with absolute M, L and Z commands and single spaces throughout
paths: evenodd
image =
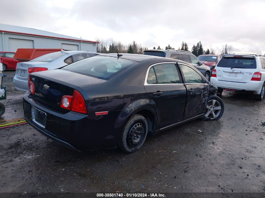
M 182 70 L 188 91 L 184 119 L 204 114 L 208 97 L 208 84 L 204 83 L 203 77 L 192 67 L 183 63 L 178 63 L 178 65 Z

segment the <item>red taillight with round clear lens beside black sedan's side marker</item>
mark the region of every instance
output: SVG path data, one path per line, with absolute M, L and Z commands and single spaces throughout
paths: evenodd
M 73 96 L 65 95 L 61 99 L 61 108 L 86 114 L 87 108 L 83 96 L 77 90 L 74 90 Z

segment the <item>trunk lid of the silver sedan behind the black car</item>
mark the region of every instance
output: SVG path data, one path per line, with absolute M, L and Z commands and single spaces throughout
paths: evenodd
M 22 63 L 17 63 L 17 70 L 16 70 L 16 75 L 19 79 L 27 80 L 28 79 L 28 69 L 30 67 L 45 67 L 47 63 L 43 62 L 22 62 Z

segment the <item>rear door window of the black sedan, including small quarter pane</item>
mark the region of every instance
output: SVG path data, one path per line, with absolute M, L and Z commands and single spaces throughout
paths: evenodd
M 148 84 L 179 84 L 180 79 L 175 64 L 165 63 L 151 67 L 147 77 Z

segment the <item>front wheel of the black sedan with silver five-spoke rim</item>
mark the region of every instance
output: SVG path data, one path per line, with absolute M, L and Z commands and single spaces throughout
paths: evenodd
M 213 107 L 214 106 L 214 107 Z M 220 97 L 209 95 L 205 108 L 204 120 L 220 119 L 225 111 L 225 105 Z

